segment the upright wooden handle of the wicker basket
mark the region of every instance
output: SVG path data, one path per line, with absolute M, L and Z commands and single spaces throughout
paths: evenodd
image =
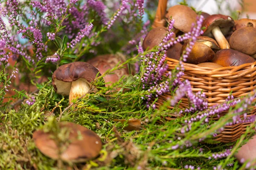
M 152 25 L 153 28 L 164 27 L 166 24 L 165 14 L 167 8 L 167 0 L 159 0 L 157 6 L 157 12 Z

